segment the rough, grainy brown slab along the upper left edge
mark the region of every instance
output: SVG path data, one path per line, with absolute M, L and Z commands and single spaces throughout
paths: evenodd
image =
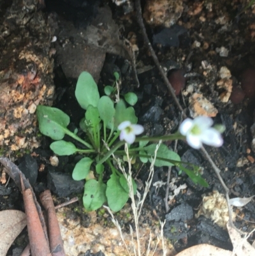
M 54 96 L 50 41 L 54 22 L 38 0 L 14 0 L 0 26 L 0 146 L 4 155 L 38 147 L 36 106 Z M 2 10 L 4 12 L 4 10 Z

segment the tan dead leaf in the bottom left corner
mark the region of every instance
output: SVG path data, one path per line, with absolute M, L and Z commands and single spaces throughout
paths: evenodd
M 0 211 L 0 256 L 5 256 L 15 238 L 27 225 L 25 213 L 16 210 Z

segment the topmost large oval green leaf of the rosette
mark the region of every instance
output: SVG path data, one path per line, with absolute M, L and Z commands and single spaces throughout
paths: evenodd
M 87 109 L 89 105 L 92 105 L 93 107 L 98 106 L 98 86 L 90 73 L 82 72 L 78 77 L 75 97 L 82 109 Z

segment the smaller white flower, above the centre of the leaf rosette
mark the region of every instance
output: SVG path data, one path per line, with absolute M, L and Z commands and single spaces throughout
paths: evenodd
M 119 126 L 120 140 L 125 140 L 129 144 L 135 141 L 135 135 L 143 133 L 143 126 L 140 124 L 131 124 L 130 121 L 124 121 Z

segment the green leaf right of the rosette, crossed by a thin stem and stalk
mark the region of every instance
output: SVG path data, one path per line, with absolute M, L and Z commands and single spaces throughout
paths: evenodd
M 143 150 L 146 151 L 149 156 L 150 162 L 152 162 L 150 156 L 154 156 L 156 146 L 157 146 L 157 144 L 151 144 L 149 146 L 143 147 Z M 174 161 L 180 161 L 179 154 L 175 153 L 174 151 L 171 151 L 164 144 L 160 144 L 159 149 L 157 149 L 157 157 L 158 158 L 166 158 L 166 159 L 174 160 Z M 162 167 L 162 166 L 173 166 L 174 164 L 170 163 L 168 161 L 165 161 L 165 160 L 156 159 L 154 165 L 157 167 Z

